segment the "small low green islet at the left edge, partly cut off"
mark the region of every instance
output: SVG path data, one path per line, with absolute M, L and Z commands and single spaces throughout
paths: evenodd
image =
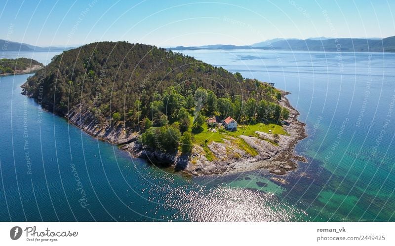
M 0 76 L 34 73 L 44 65 L 29 58 L 0 59 Z

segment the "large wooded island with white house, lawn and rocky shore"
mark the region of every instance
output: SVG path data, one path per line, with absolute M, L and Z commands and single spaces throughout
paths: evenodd
M 96 42 L 64 51 L 22 94 L 132 157 L 192 175 L 297 168 L 305 124 L 274 83 L 164 48 Z

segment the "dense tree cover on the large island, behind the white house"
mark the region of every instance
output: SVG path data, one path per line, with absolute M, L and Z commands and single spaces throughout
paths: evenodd
M 145 44 L 97 42 L 64 51 L 27 81 L 25 92 L 60 114 L 83 105 L 98 124 L 124 122 L 148 145 L 189 142 L 206 117 L 278 122 L 289 111 L 273 83 L 243 78 L 191 56 Z M 193 121 L 191 120 L 193 117 Z M 187 151 L 185 149 L 184 151 Z

